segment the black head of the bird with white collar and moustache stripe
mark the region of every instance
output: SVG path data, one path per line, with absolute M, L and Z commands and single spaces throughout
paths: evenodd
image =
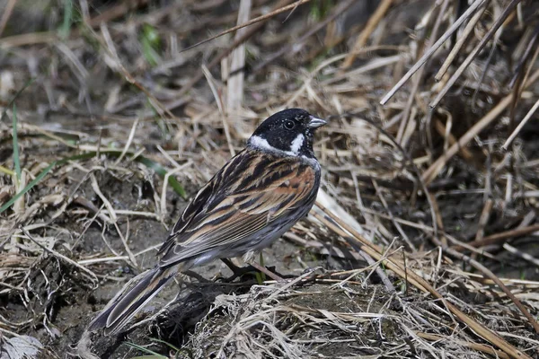
M 284 109 L 262 122 L 248 145 L 264 151 L 314 157 L 314 130 L 325 124 L 305 109 Z

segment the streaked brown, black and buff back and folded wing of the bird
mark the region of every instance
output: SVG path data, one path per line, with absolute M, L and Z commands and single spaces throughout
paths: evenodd
M 316 176 L 313 167 L 295 158 L 238 153 L 184 210 L 160 250 L 160 267 L 234 246 L 305 205 L 315 195 Z

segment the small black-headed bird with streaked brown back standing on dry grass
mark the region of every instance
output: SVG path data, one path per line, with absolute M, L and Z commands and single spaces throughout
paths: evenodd
M 119 332 L 178 271 L 259 252 L 307 215 L 320 186 L 314 131 L 325 124 L 305 109 L 264 120 L 190 201 L 158 251 L 158 264 L 131 280 L 88 330 Z

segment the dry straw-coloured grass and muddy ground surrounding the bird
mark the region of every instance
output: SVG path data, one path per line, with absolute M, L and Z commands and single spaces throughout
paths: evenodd
M 85 324 L 287 107 L 331 118 L 319 203 L 290 250 L 269 250 L 296 279 L 192 279 L 128 341 L 185 357 L 538 355 L 538 4 L 293 3 L 0 5 L 2 355 L 136 355 Z

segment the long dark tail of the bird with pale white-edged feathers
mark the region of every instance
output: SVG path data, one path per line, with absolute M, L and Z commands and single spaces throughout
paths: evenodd
M 92 320 L 89 331 L 105 328 L 106 334 L 119 332 L 137 311 L 140 311 L 155 294 L 178 272 L 178 267 L 155 267 L 131 279 L 124 288 Z M 142 278 L 141 278 L 142 277 Z

